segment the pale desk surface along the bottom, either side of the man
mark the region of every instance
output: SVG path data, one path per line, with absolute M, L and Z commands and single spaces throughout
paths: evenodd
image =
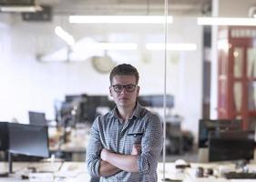
M 255 179 L 226 179 L 223 177 L 196 177 L 195 171 L 197 167 L 203 168 L 218 168 L 220 166 L 234 168 L 233 164 L 224 164 L 219 165 L 215 164 L 200 164 L 200 163 L 192 163 L 190 164 L 190 168 L 186 169 L 184 172 L 178 171 L 173 163 L 166 163 L 166 175 L 165 177 L 169 177 L 172 179 L 183 179 L 183 182 L 255 182 Z M 27 163 L 27 162 L 14 162 L 13 169 L 15 174 L 11 174 L 9 177 L 0 177 L 0 182 L 28 182 L 29 179 L 21 179 L 21 174 L 26 171 L 27 167 L 36 167 L 39 170 L 52 170 L 53 177 L 55 177 L 55 182 L 89 182 L 90 177 L 87 173 L 87 167 L 85 162 L 40 162 L 40 163 Z M 7 171 L 8 164 L 0 163 L 0 169 Z M 256 170 L 256 165 L 249 165 L 250 169 Z M 163 165 L 159 163 L 158 166 L 158 182 L 162 182 L 163 178 Z M 56 180 L 60 178 L 62 180 Z M 48 181 L 47 181 L 48 182 Z

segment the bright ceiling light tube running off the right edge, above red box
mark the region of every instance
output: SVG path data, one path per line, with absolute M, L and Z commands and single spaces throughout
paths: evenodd
M 256 19 L 243 17 L 198 17 L 198 25 L 256 25 Z

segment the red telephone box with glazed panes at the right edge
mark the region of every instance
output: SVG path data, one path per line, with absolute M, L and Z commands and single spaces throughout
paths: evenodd
M 256 28 L 220 27 L 218 38 L 218 116 L 256 124 Z

